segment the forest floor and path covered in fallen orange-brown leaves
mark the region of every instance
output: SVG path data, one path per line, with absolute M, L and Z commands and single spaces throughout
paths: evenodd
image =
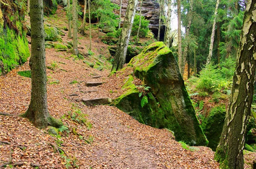
M 64 12 L 58 9 L 58 18 L 65 24 Z M 58 23 L 61 23 L 60 21 Z M 86 32 L 88 33 L 88 32 Z M 67 32 L 65 32 L 67 35 Z M 103 34 L 103 33 L 101 33 Z M 63 42 L 71 41 L 67 36 Z M 81 52 L 87 53 L 89 39 L 79 35 Z M 93 53 L 109 56 L 108 45 L 97 39 L 93 31 Z M 68 129 L 60 136 L 38 130 L 28 119 L 0 115 L 0 166 L 7 168 L 40 169 L 215 169 L 219 164 L 213 160 L 214 152 L 204 146 L 194 151 L 184 149 L 175 141 L 171 132 L 140 124 L 130 115 L 109 105 L 87 107 L 81 99 L 111 97 L 120 93 L 122 77 L 108 77 L 110 70 L 90 68 L 82 60 L 74 60 L 68 51 L 46 49 L 47 95 L 49 113 L 61 118 Z M 85 59 L 91 60 L 93 57 Z M 95 59 L 95 58 L 94 58 Z M 100 58 L 99 58 L 100 59 Z M 106 68 L 108 64 L 106 63 Z M 0 76 L 0 112 L 19 115 L 29 105 L 31 79 L 17 74 L 29 70 L 29 64 L 15 68 L 6 76 Z M 92 79 L 93 76 L 102 76 Z M 78 83 L 71 83 L 76 80 Z M 97 87 L 86 87 L 86 82 L 105 82 Z M 86 91 L 91 91 L 87 93 Z M 73 113 L 86 114 L 85 124 L 68 118 Z M 76 114 L 79 115 L 79 114 Z M 67 155 L 54 152 L 50 143 L 64 149 Z M 255 153 L 245 154 L 244 168 L 255 158 Z M 16 165 L 19 164 L 19 165 Z M 39 166 L 39 167 L 38 167 Z M 1 168 L 1 167 L 0 167 Z

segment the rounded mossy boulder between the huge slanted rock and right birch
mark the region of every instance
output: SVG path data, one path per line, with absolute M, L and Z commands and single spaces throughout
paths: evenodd
M 206 135 L 208 146 L 215 151 L 220 141 L 222 128 L 226 115 L 226 106 L 224 104 L 213 107 L 207 117 L 202 117 L 202 129 Z

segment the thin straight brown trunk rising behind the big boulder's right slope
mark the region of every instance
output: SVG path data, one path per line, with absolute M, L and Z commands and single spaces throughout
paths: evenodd
M 182 48 L 181 48 L 181 11 L 180 11 L 180 0 L 177 0 L 177 11 L 178 11 L 178 65 L 180 73 L 182 71 Z M 181 74 L 183 76 L 183 74 Z

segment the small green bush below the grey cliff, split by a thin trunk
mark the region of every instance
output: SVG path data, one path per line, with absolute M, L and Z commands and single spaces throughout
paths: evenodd
M 139 24 L 140 24 L 140 15 L 135 15 L 134 23 L 131 29 L 131 35 L 133 36 L 137 35 Z M 149 31 L 148 25 L 149 25 L 149 21 L 146 20 L 144 16 L 141 17 L 141 25 L 140 25 L 140 33 L 139 33 L 140 37 L 146 37 L 146 35 L 148 34 L 148 31 Z

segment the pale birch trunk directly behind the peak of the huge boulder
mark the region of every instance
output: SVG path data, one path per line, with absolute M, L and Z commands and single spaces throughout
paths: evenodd
M 169 48 L 171 41 L 171 15 L 172 15 L 172 0 L 167 1 L 167 17 L 166 17 L 166 32 L 165 45 Z

